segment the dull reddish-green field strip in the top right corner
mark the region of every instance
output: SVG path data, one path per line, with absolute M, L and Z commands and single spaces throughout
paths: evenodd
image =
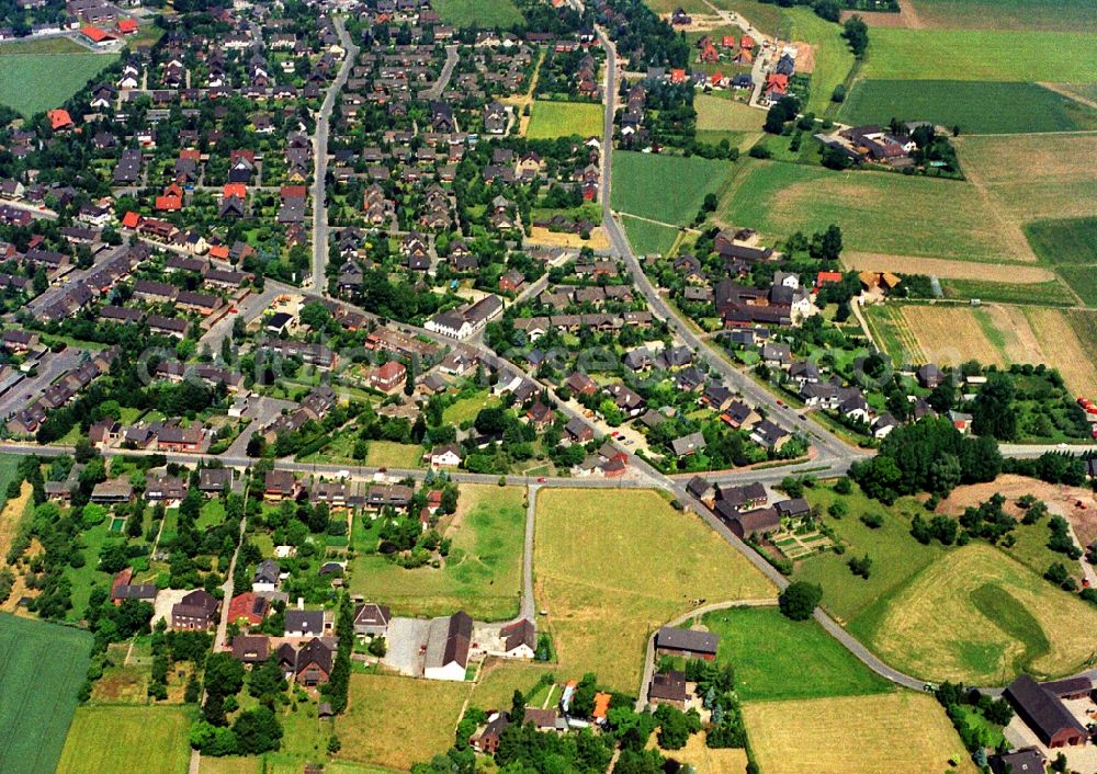
M 917 0 L 924 24 L 945 30 L 1097 32 L 1090 0 Z

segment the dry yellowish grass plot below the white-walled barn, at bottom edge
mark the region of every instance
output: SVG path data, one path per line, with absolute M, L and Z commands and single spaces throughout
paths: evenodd
M 352 674 L 350 706 L 336 719 L 339 759 L 407 771 L 453 743 L 464 683 Z

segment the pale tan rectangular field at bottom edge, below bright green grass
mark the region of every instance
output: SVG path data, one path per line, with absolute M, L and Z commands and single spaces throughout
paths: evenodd
M 925 694 L 746 703 L 743 717 L 764 772 L 976 771 L 945 710 Z M 950 766 L 950 759 L 960 763 Z

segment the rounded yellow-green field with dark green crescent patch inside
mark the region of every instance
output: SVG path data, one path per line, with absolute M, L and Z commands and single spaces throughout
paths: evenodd
M 908 674 L 1004 684 L 1022 670 L 1060 675 L 1082 665 L 1097 645 L 1097 611 L 972 544 L 873 604 L 856 630 Z

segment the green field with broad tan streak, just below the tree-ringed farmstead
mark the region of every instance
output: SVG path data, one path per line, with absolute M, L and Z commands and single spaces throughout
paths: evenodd
M 836 223 L 850 251 L 989 262 L 1033 258 L 1024 237 L 1004 234 L 985 200 L 963 182 L 751 159 L 739 168 L 719 216 L 773 238 Z

